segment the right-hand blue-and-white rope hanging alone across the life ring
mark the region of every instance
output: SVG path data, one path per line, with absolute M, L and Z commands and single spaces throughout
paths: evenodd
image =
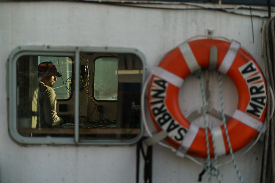
M 221 114 L 222 114 L 222 118 L 223 118 L 223 126 L 224 126 L 224 130 L 225 130 L 225 136 L 226 136 L 226 140 L 227 140 L 227 143 L 229 146 L 230 156 L 232 158 L 234 168 L 236 170 L 236 173 L 239 177 L 240 182 L 243 183 L 244 181 L 243 181 L 243 178 L 241 177 L 241 173 L 240 173 L 240 171 L 237 167 L 236 161 L 235 161 L 235 157 L 233 154 L 233 150 L 232 150 L 232 146 L 231 146 L 231 142 L 229 139 L 228 130 L 227 130 L 226 122 L 225 122 L 224 109 L 223 109 L 223 84 L 222 84 L 222 79 L 221 79 L 221 73 L 219 73 L 219 83 L 220 83 L 220 96 L 221 96 L 221 98 L 220 98 L 220 100 L 221 100 Z

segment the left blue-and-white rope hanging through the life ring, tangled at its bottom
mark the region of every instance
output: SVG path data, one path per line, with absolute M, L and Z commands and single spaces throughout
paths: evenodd
M 217 167 L 217 161 L 218 161 L 218 156 L 216 152 L 216 146 L 215 146 L 215 140 L 213 138 L 213 132 L 212 128 L 207 125 L 206 121 L 206 107 L 205 107 L 205 94 L 204 94 L 204 86 L 203 86 L 203 73 L 200 75 L 200 81 L 201 81 L 201 94 L 203 98 L 203 120 L 204 120 L 204 127 L 205 127 L 205 141 L 206 141 L 206 148 L 207 148 L 207 162 L 204 163 L 205 167 L 204 170 L 207 170 L 208 174 L 208 182 L 211 182 L 211 175 L 215 175 L 218 179 L 218 182 L 221 183 L 221 178 L 219 176 L 219 168 Z M 212 144 L 213 144 L 213 150 L 214 150 L 214 164 L 210 160 L 210 148 L 209 148 L 209 139 L 208 139 L 208 128 L 210 129 L 211 132 L 211 139 L 212 139 Z M 211 170 L 215 170 L 214 174 L 211 174 Z

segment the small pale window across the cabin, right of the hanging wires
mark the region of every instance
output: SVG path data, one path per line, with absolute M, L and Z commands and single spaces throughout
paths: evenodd
M 117 100 L 118 58 L 96 59 L 94 78 L 96 100 Z

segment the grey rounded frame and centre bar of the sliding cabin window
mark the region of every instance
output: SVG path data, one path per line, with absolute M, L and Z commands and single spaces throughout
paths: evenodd
M 134 144 L 143 136 L 143 121 L 140 118 L 140 133 L 129 140 L 80 140 L 79 134 L 79 112 L 74 110 L 74 137 L 24 137 L 17 131 L 17 104 L 19 101 L 17 94 L 17 59 L 23 55 L 58 55 L 75 56 L 74 77 L 80 74 L 80 52 L 100 52 L 100 53 L 132 53 L 137 55 L 142 62 L 142 82 L 143 87 L 146 77 L 146 62 L 142 52 L 133 48 L 120 47 L 81 47 L 81 46 L 45 46 L 45 45 L 24 45 L 18 46 L 10 53 L 7 59 L 7 112 L 8 130 L 11 138 L 19 144 L 58 144 L 58 145 L 129 145 Z M 79 88 L 79 79 L 75 80 L 75 88 Z M 141 87 L 141 91 L 142 91 Z M 79 108 L 79 90 L 74 91 L 74 108 Z M 78 97 L 76 97 L 78 96 Z M 16 114 L 16 115 L 14 115 Z

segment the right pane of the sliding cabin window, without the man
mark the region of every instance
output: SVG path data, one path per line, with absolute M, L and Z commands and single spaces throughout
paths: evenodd
M 129 140 L 137 137 L 141 132 L 143 64 L 140 57 L 126 53 L 94 53 L 87 58 L 87 63 L 94 61 L 94 68 L 89 71 L 94 70 L 94 75 L 89 77 L 94 77 L 94 85 L 87 85 L 85 75 L 81 80 L 86 88 L 84 91 L 94 93 L 88 98 L 88 107 L 80 107 L 80 140 Z

